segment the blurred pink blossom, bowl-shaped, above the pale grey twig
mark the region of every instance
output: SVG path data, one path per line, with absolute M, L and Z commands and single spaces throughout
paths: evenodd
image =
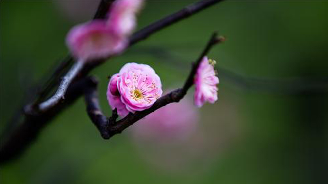
M 103 20 L 75 26 L 66 42 L 71 53 L 83 61 L 119 54 L 127 45 L 127 40 L 113 34 Z

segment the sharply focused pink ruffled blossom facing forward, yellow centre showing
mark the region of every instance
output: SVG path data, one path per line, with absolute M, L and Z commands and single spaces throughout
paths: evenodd
M 107 89 L 109 105 L 121 117 L 150 108 L 161 95 L 160 78 L 147 64 L 125 64 L 111 77 Z

